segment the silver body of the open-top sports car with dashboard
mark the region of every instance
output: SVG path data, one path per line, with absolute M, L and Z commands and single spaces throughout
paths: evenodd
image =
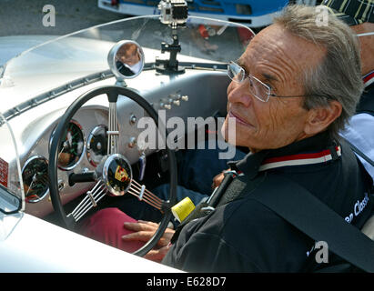
M 110 48 L 117 41 L 131 39 L 138 42 L 145 51 L 146 65 L 155 62 L 156 56 L 166 57 L 159 47 L 162 41 L 169 41 L 169 28 L 155 25 L 157 19 L 157 16 L 134 17 L 72 35 L 35 37 L 29 39 L 30 47 L 21 47 L 19 50 L 26 48 L 25 51 L 15 51 L 16 56 L 11 55 L 15 56 L 12 59 L 7 60 L 11 56 L 3 55 L 7 62 L 0 69 L 0 100 L 3 101 L 0 111 L 6 124 L 1 118 L 0 158 L 5 161 L 2 164 L 6 167 L 5 186 L 23 205 L 13 214 L 0 212 L 0 272 L 178 272 L 45 221 L 45 216 L 54 212 L 48 191 L 40 199 L 27 201 L 27 191 L 19 178 L 19 172 L 25 170 L 30 159 L 35 156 L 49 158 L 51 135 L 66 108 L 79 95 L 97 86 L 118 84 L 106 61 Z M 178 116 L 186 121 L 190 116 L 207 118 L 217 111 L 225 113 L 228 78 L 221 69 L 222 64 L 238 58 L 244 50 L 246 43 L 238 36 L 243 35 L 243 30 L 244 35 L 252 35 L 241 25 L 204 19 L 195 19 L 195 22 L 217 25 L 222 28 L 222 35 L 200 39 L 192 30 L 190 35 L 181 37 L 182 52 L 178 60 L 190 62 L 184 74 L 163 75 L 150 65 L 136 78 L 125 81 L 156 110 L 165 110 L 167 118 Z M 194 21 L 189 26 L 188 29 L 197 27 Z M 238 41 L 227 45 L 227 39 L 234 31 L 238 33 L 235 35 Z M 193 38 L 195 36 L 197 38 Z M 20 43 L 17 37 L 3 38 L 3 41 L 14 47 Z M 197 49 L 198 45 L 202 45 L 201 50 Z M 198 65 L 201 63 L 210 65 L 203 68 Z M 131 164 L 139 159 L 139 151 L 131 143 L 141 131 L 136 124 L 144 115 L 144 110 L 134 102 L 120 97 L 117 103 L 119 150 Z M 69 186 L 68 175 L 95 170 L 87 156 L 86 142 L 97 125 L 107 125 L 106 96 L 98 96 L 89 102 L 74 119 L 81 127 L 85 147 L 76 165 L 68 170 L 58 170 L 63 204 L 84 196 L 93 186 L 93 183 Z M 6 125 L 13 129 L 18 153 L 15 153 Z M 193 134 L 193 131 L 186 132 L 186 136 Z M 153 152 L 149 150 L 147 155 Z M 4 168 L 2 171 L 4 174 Z M 6 208 L 5 200 L 0 194 L 2 209 Z

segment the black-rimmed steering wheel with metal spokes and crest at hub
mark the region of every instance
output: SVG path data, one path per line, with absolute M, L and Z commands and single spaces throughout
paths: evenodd
M 49 153 L 49 166 L 48 166 L 48 176 L 49 176 L 49 192 L 52 200 L 52 205 L 62 220 L 63 224 L 66 228 L 70 230 L 74 230 L 76 227 L 76 212 L 73 211 L 72 213 L 66 215 L 66 211 L 62 205 L 61 197 L 59 195 L 59 188 L 58 188 L 58 178 L 57 178 L 57 160 L 59 154 L 59 146 L 63 142 L 62 138 L 63 135 L 66 133 L 67 125 L 69 124 L 72 117 L 76 114 L 79 108 L 81 108 L 86 102 L 97 95 L 107 95 L 109 101 L 109 123 L 108 123 L 108 138 L 112 138 L 112 143 L 109 142 L 110 145 L 108 146 L 108 155 L 103 160 L 103 176 L 98 179 L 96 186 L 91 191 L 87 191 L 84 200 L 86 199 L 86 206 L 96 206 L 96 202 L 101 199 L 103 196 L 106 195 L 107 192 L 110 192 L 112 196 L 121 196 L 126 193 L 126 191 L 132 186 L 137 185 L 137 189 L 139 188 L 139 184 L 132 178 L 131 173 L 131 166 L 128 164 L 126 158 L 119 153 L 117 153 L 116 148 L 116 138 L 119 135 L 118 128 L 116 127 L 116 102 L 118 99 L 118 95 L 124 95 L 131 100 L 135 101 L 137 105 L 140 105 L 147 114 L 155 121 L 155 124 L 158 128 L 160 125 L 158 124 L 158 115 L 156 110 L 150 105 L 146 99 L 142 96 L 136 94 L 134 91 L 127 89 L 125 87 L 119 87 L 116 85 L 112 86 L 101 86 L 96 89 L 92 89 L 86 92 L 83 95 L 80 95 L 75 102 L 73 102 L 67 109 L 65 114 L 61 117 L 59 121 L 55 134 L 52 137 L 52 142 L 50 146 L 50 153 Z M 136 250 L 133 254 L 137 256 L 145 256 L 147 252 L 149 252 L 154 246 L 156 246 L 157 241 L 161 238 L 164 234 L 167 224 L 170 221 L 172 216 L 171 213 L 171 206 L 176 204 L 176 194 L 177 194 L 177 162 L 174 151 L 170 150 L 167 147 L 167 139 L 164 133 L 159 130 L 160 136 L 164 139 L 167 151 L 167 165 L 169 166 L 169 193 L 167 201 L 158 202 L 159 209 L 164 214 L 157 231 L 154 236 L 142 247 Z M 121 173 L 118 175 L 116 169 L 120 169 Z M 116 173 L 114 173 L 116 172 Z M 125 174 L 124 174 L 125 173 Z M 135 184 L 136 183 L 136 184 Z M 141 196 L 145 191 L 144 186 L 141 186 Z M 95 195 L 93 195 L 93 193 Z M 140 196 L 140 199 L 141 199 Z M 83 204 L 84 200 L 80 203 Z M 80 212 L 83 210 L 80 209 Z M 85 210 L 86 211 L 86 210 Z

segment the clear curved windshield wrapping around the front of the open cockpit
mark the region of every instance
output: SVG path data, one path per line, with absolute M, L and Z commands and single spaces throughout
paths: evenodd
M 177 60 L 227 63 L 243 53 L 253 35 L 244 25 L 189 17 L 186 27 L 178 28 L 181 52 Z M 0 70 L 0 97 L 12 96 L 2 111 L 7 118 L 6 111 L 25 100 L 87 75 L 108 71 L 107 54 L 121 40 L 141 45 L 146 65 L 154 63 L 156 57 L 165 59 L 168 53 L 161 53 L 161 43 L 171 44 L 171 36 L 171 28 L 160 22 L 159 15 L 148 15 L 96 25 L 36 45 Z

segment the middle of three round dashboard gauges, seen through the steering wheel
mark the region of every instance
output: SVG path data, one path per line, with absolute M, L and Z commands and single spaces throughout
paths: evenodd
M 85 136 L 82 126 L 76 121 L 70 121 L 66 128 L 66 134 L 58 147 L 58 167 L 62 170 L 74 168 L 85 150 Z

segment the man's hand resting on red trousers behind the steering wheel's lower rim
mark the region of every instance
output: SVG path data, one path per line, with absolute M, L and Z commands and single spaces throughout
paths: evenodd
M 155 235 L 158 228 L 156 223 L 144 220 L 138 220 L 137 223 L 126 222 L 124 226 L 127 229 L 134 231 L 134 233 L 122 236 L 123 240 L 141 241 L 146 243 L 153 235 Z M 164 235 L 157 242 L 157 246 L 150 250 L 144 257 L 155 262 L 161 262 L 164 256 L 167 255 L 167 251 L 170 248 L 169 243 L 174 233 L 175 231 L 173 229 L 167 228 Z

